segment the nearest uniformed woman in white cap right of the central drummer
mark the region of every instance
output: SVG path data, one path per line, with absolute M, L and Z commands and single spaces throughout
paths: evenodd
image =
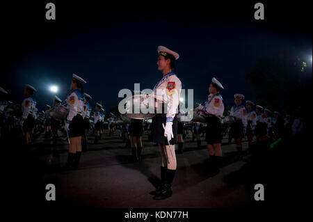
M 222 158 L 222 150 L 220 143 L 222 142 L 222 125 L 220 118 L 223 116 L 224 104 L 220 90 L 224 89 L 222 84 L 216 79 L 211 80 L 209 86 L 209 97 L 204 106 L 199 109 L 207 114 L 207 132 L 206 138 L 207 148 L 209 149 L 209 163 L 211 173 L 220 172 L 220 159 Z

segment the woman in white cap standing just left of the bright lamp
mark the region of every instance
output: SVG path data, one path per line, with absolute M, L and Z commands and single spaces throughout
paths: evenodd
M 36 100 L 33 97 L 33 93 L 35 92 L 35 88 L 29 84 L 25 85 L 24 95 L 26 98 L 22 102 L 22 120 L 21 126 L 24 132 L 24 144 L 26 148 L 29 149 L 29 145 L 31 143 L 31 132 L 33 131 L 33 126 L 35 124 L 35 108 L 36 108 Z

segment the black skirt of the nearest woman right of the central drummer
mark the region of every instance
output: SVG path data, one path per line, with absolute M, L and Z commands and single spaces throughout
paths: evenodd
M 208 144 L 222 142 L 222 125 L 220 124 L 220 119 L 216 116 L 209 116 L 207 118 L 205 141 L 207 141 Z

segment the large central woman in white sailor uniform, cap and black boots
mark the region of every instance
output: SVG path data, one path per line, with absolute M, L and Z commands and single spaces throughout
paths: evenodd
M 175 143 L 177 143 L 177 117 L 176 112 L 179 105 L 179 95 L 182 90 L 182 82 L 175 70 L 175 60 L 179 55 L 166 47 L 159 46 L 158 70 L 163 72 L 163 78 L 153 88 L 153 95 L 163 97 L 166 110 L 157 113 L 152 118 L 152 138 L 154 143 L 159 144 L 161 150 L 161 185 L 155 191 L 154 200 L 161 200 L 172 196 L 172 181 L 176 172 Z M 161 107 L 164 109 L 164 106 Z M 165 129 L 163 129 L 163 125 Z M 170 145 L 168 145 L 170 143 Z M 154 192 L 153 192 L 154 193 Z

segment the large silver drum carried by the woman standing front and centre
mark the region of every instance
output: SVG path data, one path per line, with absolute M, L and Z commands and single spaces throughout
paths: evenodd
M 153 95 L 133 95 L 125 104 L 126 116 L 134 119 L 150 119 L 161 112 L 164 102 Z

